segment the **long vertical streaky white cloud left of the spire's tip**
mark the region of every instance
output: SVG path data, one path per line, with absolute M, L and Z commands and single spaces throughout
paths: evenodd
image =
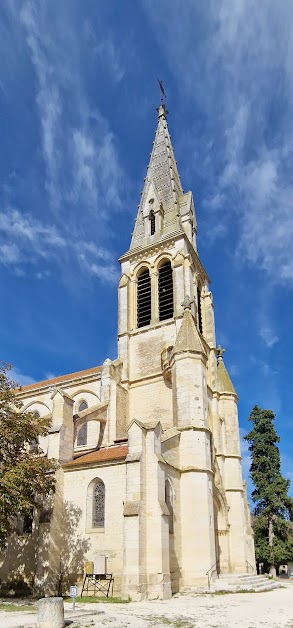
M 81 48 L 74 43 L 74 36 L 80 33 L 70 30 L 66 20 L 60 31 L 58 12 L 52 17 L 46 5 L 30 0 L 24 2 L 20 16 L 36 76 L 36 104 L 52 205 L 83 202 L 96 210 L 100 205 L 102 213 L 112 203 L 115 211 L 121 205 L 122 170 L 107 120 L 96 106 L 89 106 L 84 93 Z M 112 51 L 114 63 L 110 40 L 99 46 Z M 117 73 L 118 61 L 115 67 Z M 74 115 L 68 115 L 70 109 Z

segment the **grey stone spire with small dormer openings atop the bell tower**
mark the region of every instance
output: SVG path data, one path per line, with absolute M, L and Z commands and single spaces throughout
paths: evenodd
M 192 222 L 190 239 L 192 230 L 195 230 L 192 195 L 190 192 L 184 194 L 182 190 L 165 105 L 161 104 L 157 112 L 158 126 L 130 249 L 144 247 L 174 232 L 187 232 L 183 225 L 187 215 Z

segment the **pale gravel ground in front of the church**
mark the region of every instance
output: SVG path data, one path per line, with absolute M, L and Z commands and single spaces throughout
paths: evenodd
M 293 583 L 266 593 L 182 596 L 130 604 L 65 604 L 71 628 L 293 628 Z M 1 628 L 35 628 L 36 613 L 0 611 Z

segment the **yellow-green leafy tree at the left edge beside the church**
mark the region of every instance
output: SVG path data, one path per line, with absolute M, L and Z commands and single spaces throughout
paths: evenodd
M 37 444 L 49 422 L 23 412 L 17 384 L 8 377 L 10 368 L 0 364 L 0 547 L 13 531 L 15 517 L 30 517 L 54 490 L 56 469 Z

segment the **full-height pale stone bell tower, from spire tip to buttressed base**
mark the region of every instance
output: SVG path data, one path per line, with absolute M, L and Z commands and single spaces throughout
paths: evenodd
M 181 186 L 165 105 L 157 112 L 118 298 L 129 447 L 123 587 L 150 599 L 253 560 L 237 395 L 216 348 L 192 193 Z

